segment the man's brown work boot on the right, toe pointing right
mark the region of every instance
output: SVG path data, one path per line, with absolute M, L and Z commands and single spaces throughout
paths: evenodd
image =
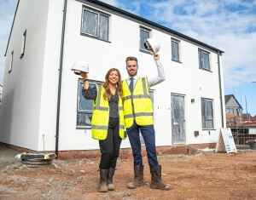
M 151 174 L 151 184 L 150 187 L 153 189 L 160 189 L 164 191 L 169 191 L 171 186 L 169 184 L 165 184 L 161 179 L 161 166 L 150 166 L 150 174 Z

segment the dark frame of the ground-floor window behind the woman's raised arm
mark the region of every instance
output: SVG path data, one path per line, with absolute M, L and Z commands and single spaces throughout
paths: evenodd
M 99 81 L 94 81 L 94 80 L 88 80 L 89 82 L 89 87 L 94 87 L 95 85 L 100 85 L 102 82 Z M 92 111 L 93 111 L 93 106 L 91 106 L 91 110 L 85 110 L 85 109 L 79 109 L 81 106 L 79 105 L 80 103 L 80 98 L 84 98 L 82 94 L 82 87 L 84 87 L 84 80 L 82 78 L 79 78 L 78 81 L 78 94 L 77 94 L 77 119 L 76 119 L 76 129 L 91 129 L 90 125 L 80 125 L 79 124 L 79 114 L 89 114 L 92 116 Z M 84 99 L 86 100 L 86 99 Z M 86 100 L 87 101 L 87 100 Z M 93 104 L 93 100 L 88 100 L 91 101 L 91 104 Z M 91 117 L 90 117 L 91 120 Z

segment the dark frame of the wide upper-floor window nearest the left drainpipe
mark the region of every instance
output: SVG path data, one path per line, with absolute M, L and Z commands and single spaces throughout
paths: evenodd
M 94 14 L 97 14 L 97 20 L 96 20 L 96 35 L 94 34 L 90 34 L 88 32 L 86 32 L 85 27 L 84 27 L 84 12 L 87 11 L 87 12 L 90 12 L 90 13 L 94 13 Z M 101 30 L 101 16 L 104 16 L 104 17 L 107 17 L 108 18 L 108 30 L 107 30 L 107 38 L 103 38 L 103 37 L 100 37 L 100 30 Z M 81 35 L 84 35 L 84 36 L 87 36 L 87 37 L 93 37 L 93 38 L 96 38 L 96 39 L 99 39 L 99 40 L 102 40 L 102 41 L 105 41 L 105 42 L 110 42 L 109 41 L 109 26 L 110 26 L 110 14 L 106 14 L 106 13 L 103 13 L 101 11 L 98 11 L 96 9 L 90 9 L 88 7 L 85 7 L 83 6 L 82 8 L 82 16 L 81 16 L 81 29 L 80 29 L 80 34 Z

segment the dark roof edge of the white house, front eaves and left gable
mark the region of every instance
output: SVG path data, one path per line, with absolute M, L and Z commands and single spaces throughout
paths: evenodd
M 65 0 L 65 2 L 66 1 L 67 0 Z M 129 20 L 136 21 L 136 22 L 138 22 L 140 24 L 143 24 L 145 26 L 151 26 L 151 27 L 153 27 L 154 29 L 156 29 L 158 31 L 162 31 L 162 32 L 165 32 L 167 34 L 172 34 L 174 37 L 181 38 L 181 39 L 183 39 L 187 42 L 194 43 L 194 44 L 196 44 L 198 46 L 201 46 L 201 47 L 204 47 L 206 49 L 211 49 L 214 52 L 217 52 L 219 54 L 224 53 L 224 51 L 222 51 L 220 49 L 216 49 L 216 48 L 208 45 L 207 43 L 202 43 L 199 40 L 196 40 L 195 38 L 188 37 L 186 35 L 183 35 L 180 32 L 177 32 L 177 31 L 174 31 L 170 28 L 167 28 L 166 26 L 161 26 L 159 24 L 154 23 L 153 21 L 146 20 L 142 17 L 137 16 L 136 14 L 131 14 L 131 13 L 125 11 L 125 10 L 113 7 L 113 6 L 109 5 L 108 3 L 103 3 L 101 1 L 95 1 L 95 0 L 76 0 L 76 1 L 81 2 L 81 3 L 89 4 L 91 6 L 94 6 L 94 7 L 98 8 L 98 9 L 106 10 L 110 13 L 117 14 L 117 15 L 125 17 L 126 19 L 129 19 Z M 16 7 L 16 10 L 15 10 L 15 17 L 16 17 L 16 13 L 17 13 L 17 10 L 18 10 L 18 7 L 19 7 L 19 3 L 20 3 L 20 0 L 17 3 L 17 7 Z M 12 31 L 13 31 L 13 26 L 14 26 L 14 23 L 15 23 L 15 17 L 14 17 L 14 20 L 13 20 L 13 24 L 12 24 L 12 27 L 11 27 L 10 34 L 9 34 L 9 39 L 10 39 L 10 36 L 12 34 Z M 4 56 L 6 56 L 6 54 L 7 54 L 8 47 L 9 47 L 9 40 L 8 40 L 8 43 L 7 43 L 7 48 L 6 48 Z

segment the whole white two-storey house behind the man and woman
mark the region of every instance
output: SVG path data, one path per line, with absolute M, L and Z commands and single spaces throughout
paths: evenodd
M 154 76 L 153 55 L 143 47 L 148 37 L 160 41 L 166 71 L 166 81 L 150 90 L 158 150 L 215 146 L 226 124 L 224 52 L 93 0 L 18 2 L 5 54 L 1 143 L 59 156 L 92 155 L 99 149 L 88 123 L 92 106 L 71 67 L 87 60 L 93 85 L 112 67 L 126 78 L 125 58 L 132 55 L 140 76 Z M 121 151 L 130 147 L 125 138 Z

